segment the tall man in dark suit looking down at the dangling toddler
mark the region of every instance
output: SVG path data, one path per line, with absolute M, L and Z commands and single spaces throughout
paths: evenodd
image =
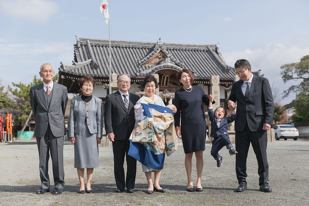
M 228 108 L 235 109 L 235 146 L 236 176 L 238 179 L 237 192 L 247 189 L 246 162 L 248 150 L 251 145 L 257 158 L 260 190 L 272 192 L 268 181 L 267 162 L 267 130 L 273 120 L 274 102 L 269 82 L 266 78 L 255 76 L 251 72 L 251 65 L 245 59 L 235 63 L 236 74 L 240 80 L 233 83 L 232 91 L 228 97 Z

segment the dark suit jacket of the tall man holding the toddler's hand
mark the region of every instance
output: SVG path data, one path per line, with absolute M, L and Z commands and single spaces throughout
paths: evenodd
M 235 131 L 242 131 L 246 122 L 251 131 L 262 131 L 263 124 L 272 125 L 274 114 L 274 102 L 269 82 L 264 77 L 254 75 L 248 101 L 241 91 L 242 84 L 241 79 L 234 82 L 228 97 L 228 101 L 237 102 Z

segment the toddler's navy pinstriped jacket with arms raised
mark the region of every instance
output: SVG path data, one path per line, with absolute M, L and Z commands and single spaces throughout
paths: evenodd
M 208 110 L 209 120 L 211 121 L 211 137 L 222 137 L 223 135 L 228 136 L 228 123 L 233 122 L 236 119 L 236 115 L 230 117 L 223 117 L 220 120 L 220 127 L 218 128 L 217 119 L 214 116 L 213 109 Z

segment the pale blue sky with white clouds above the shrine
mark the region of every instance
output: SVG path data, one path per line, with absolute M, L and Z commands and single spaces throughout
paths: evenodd
M 111 39 L 213 44 L 228 65 L 247 59 L 282 93 L 280 66 L 309 55 L 309 1 L 110 0 Z M 0 0 L 0 79 L 29 84 L 39 67 L 74 60 L 75 35 L 108 39 L 101 0 Z M 290 103 L 295 95 L 282 99 Z

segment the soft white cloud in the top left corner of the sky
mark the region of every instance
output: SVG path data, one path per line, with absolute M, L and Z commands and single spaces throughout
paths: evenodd
M 3 16 L 27 20 L 34 23 L 47 22 L 58 10 L 58 5 L 48 0 L 0 1 L 0 13 Z

